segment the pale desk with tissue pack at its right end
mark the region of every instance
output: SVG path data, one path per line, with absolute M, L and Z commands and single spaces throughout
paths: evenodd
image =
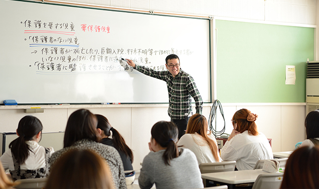
M 252 186 L 260 174 L 271 174 L 264 172 L 262 169 L 228 171 L 217 173 L 203 173 L 202 179 L 206 179 L 206 187 L 216 186 L 216 184 L 227 185 L 228 189 L 236 188 L 236 185 L 249 184 Z

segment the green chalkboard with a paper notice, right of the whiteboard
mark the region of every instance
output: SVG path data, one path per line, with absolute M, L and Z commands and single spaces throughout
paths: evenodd
M 224 103 L 305 102 L 314 28 L 216 20 L 217 99 Z M 286 65 L 296 85 L 285 85 Z

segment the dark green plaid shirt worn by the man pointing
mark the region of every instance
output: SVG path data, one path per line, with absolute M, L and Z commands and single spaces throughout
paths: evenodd
M 169 98 L 168 115 L 171 119 L 184 119 L 192 112 L 191 96 L 196 102 L 196 113 L 202 113 L 203 100 L 194 79 L 186 72 L 180 69 L 174 78 L 168 71 L 154 71 L 139 65 L 136 65 L 135 69 L 166 82 Z

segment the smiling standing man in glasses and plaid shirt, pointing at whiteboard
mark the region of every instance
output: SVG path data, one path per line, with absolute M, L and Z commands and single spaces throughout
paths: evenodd
M 185 134 L 189 116 L 192 115 L 191 97 L 196 102 L 196 113 L 202 113 L 203 100 L 194 79 L 180 69 L 179 58 L 175 54 L 168 55 L 165 59 L 168 71 L 155 71 L 139 66 L 130 59 L 126 60 L 137 71 L 166 82 L 169 98 L 168 115 L 170 121 L 177 125 L 179 139 Z

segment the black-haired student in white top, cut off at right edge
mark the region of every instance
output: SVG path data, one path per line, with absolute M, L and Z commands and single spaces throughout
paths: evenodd
M 301 144 L 303 146 L 319 145 L 319 111 L 311 111 L 305 119 L 307 139 Z

